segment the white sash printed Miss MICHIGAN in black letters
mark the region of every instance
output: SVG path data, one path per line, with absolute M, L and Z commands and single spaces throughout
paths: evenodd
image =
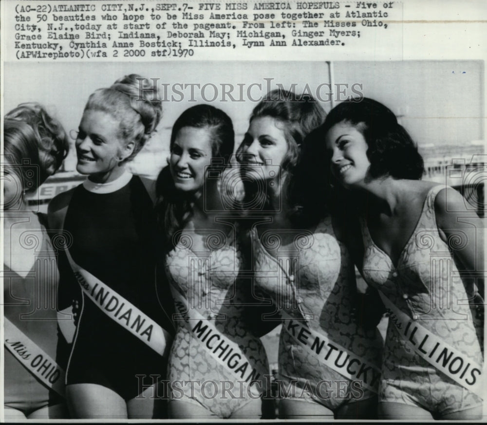
M 243 382 L 242 380 L 244 380 L 244 387 L 247 387 L 247 385 L 252 386 L 255 383 L 253 382 L 254 380 L 269 373 L 268 370 L 259 371 L 252 368 L 251 362 L 247 361 L 245 354 L 237 343 L 218 331 L 209 320 L 199 314 L 195 309 L 189 309 L 187 299 L 173 286 L 172 283 L 169 286 L 176 305 L 176 311 L 181 314 L 186 329 L 196 339 L 204 343 L 201 347 L 203 347 L 220 365 L 235 376 L 237 381 Z M 212 343 L 213 340 L 215 340 L 215 342 L 210 346 L 210 343 Z M 217 354 L 217 351 L 219 354 Z M 244 379 L 244 373 L 249 366 L 252 370 Z

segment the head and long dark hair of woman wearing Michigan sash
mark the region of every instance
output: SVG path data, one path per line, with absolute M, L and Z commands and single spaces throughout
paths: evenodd
M 165 249 L 174 247 L 173 236 L 184 228 L 191 203 L 219 202 L 218 179 L 208 175 L 228 166 L 233 152 L 234 131 L 230 117 L 210 105 L 184 111 L 174 123 L 170 139 L 169 166 L 157 179 L 158 220 L 165 229 Z M 202 198 L 206 191 L 205 199 Z

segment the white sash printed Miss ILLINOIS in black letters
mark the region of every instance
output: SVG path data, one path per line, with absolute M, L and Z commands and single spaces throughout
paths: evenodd
M 398 333 L 421 358 L 449 378 L 482 398 L 482 366 L 467 354 L 447 344 L 417 321 L 399 310 L 381 291 L 382 302 L 389 312 Z

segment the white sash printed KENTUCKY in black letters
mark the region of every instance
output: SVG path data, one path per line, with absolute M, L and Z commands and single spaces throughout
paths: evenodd
M 363 388 L 377 392 L 380 378 L 380 369 L 377 366 L 331 341 L 325 335 L 309 329 L 289 314 L 281 313 L 284 317 L 282 327 L 285 331 L 319 363 L 351 381 L 362 381 Z

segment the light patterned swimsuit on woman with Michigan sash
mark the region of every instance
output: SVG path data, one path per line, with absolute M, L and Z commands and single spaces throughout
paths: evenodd
M 206 239 L 211 252 L 196 253 L 191 250 L 191 236 L 185 232 L 166 258 L 166 273 L 173 287 L 186 298 L 189 309 L 196 310 L 221 334 L 239 345 L 248 361 L 242 381 L 255 369 L 260 374 L 256 378 L 260 385 L 256 388 L 262 388 L 263 392 L 267 384 L 267 378 L 263 375 L 269 373 L 269 366 L 260 339 L 243 324 L 243 299 L 235 284 L 242 264 L 236 234 L 236 228 L 227 235 L 212 230 Z M 175 324 L 177 330 L 168 366 L 171 399 L 197 403 L 221 418 L 228 418 L 252 401 L 246 391 L 239 389 L 240 384 L 236 382 L 235 375 L 208 352 L 207 341 L 204 343 L 195 337 L 177 317 Z M 223 348 L 217 351 L 217 355 L 223 352 Z M 225 357 L 225 354 L 221 357 Z M 190 385 L 178 385 L 182 390 L 174 390 L 174 385 L 181 381 L 193 381 L 195 384 L 193 388 Z M 206 385 L 205 381 L 212 381 L 216 386 L 213 383 Z M 224 386 L 234 388 L 231 392 L 237 397 L 232 398 L 229 393 L 225 395 Z M 180 396 L 181 392 L 184 392 L 184 397 Z M 254 398 L 256 396 L 258 393 L 253 395 Z

